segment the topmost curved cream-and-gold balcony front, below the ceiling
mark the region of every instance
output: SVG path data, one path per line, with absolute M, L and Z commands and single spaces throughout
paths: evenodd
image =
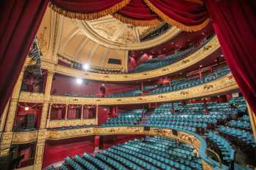
M 67 66 L 49 66 L 49 62 L 44 60 L 42 61 L 42 69 L 53 69 L 54 72 L 59 74 L 65 74 L 68 76 L 79 77 L 88 80 L 97 80 L 105 82 L 138 81 L 179 72 L 182 69 L 192 66 L 193 64 L 202 61 L 204 58 L 207 58 L 208 55 L 214 53 L 216 50 L 219 49 L 219 47 L 220 46 L 217 40 L 217 36 L 214 36 L 214 38 L 212 38 L 211 41 L 208 42 L 206 45 L 201 47 L 200 50 L 197 50 L 195 53 L 192 53 L 191 55 L 187 56 L 187 58 L 184 58 L 181 61 L 177 61 L 176 63 L 164 66 L 159 69 L 130 74 L 99 74 L 94 72 L 85 72 L 78 69 L 72 69 Z

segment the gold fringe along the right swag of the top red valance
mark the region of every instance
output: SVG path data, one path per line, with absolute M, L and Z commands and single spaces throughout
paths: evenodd
M 155 12 L 159 18 L 162 18 L 162 20 L 165 21 L 165 23 L 170 23 L 173 26 L 176 26 L 177 28 L 181 29 L 182 31 L 187 31 L 187 32 L 192 32 L 192 31 L 199 31 L 202 28 L 206 27 L 207 24 L 210 22 L 210 19 L 207 18 L 203 23 L 201 23 L 198 26 L 186 26 L 183 23 L 179 23 L 176 20 L 173 20 L 172 18 L 169 18 L 167 15 L 165 15 L 162 11 L 157 9 L 157 7 L 154 6 L 149 0 L 143 0 L 146 5 L 153 11 Z

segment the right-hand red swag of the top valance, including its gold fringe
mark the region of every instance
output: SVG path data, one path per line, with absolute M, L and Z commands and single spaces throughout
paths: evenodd
M 166 23 L 184 31 L 199 31 L 208 22 L 208 13 L 203 1 L 143 0 Z

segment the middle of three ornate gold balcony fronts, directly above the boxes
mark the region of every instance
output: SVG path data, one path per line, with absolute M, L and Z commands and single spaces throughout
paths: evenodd
M 160 93 L 148 96 L 123 97 L 123 98 L 83 98 L 74 96 L 50 96 L 53 104 L 91 104 L 91 105 L 117 105 L 117 104 L 144 104 L 153 102 L 179 101 L 189 98 L 214 96 L 238 90 L 238 85 L 232 74 L 227 74 L 212 82 L 197 85 L 184 90 L 176 90 L 169 93 Z M 33 93 L 22 92 L 20 101 L 43 102 L 43 96 L 35 96 Z

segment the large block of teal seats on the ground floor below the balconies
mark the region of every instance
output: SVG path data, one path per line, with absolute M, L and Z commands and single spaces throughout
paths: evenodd
M 200 158 L 193 155 L 189 144 L 163 137 L 135 139 L 110 147 L 92 156 L 84 153 L 82 157 L 67 157 L 59 169 L 152 169 L 152 170 L 202 170 Z

